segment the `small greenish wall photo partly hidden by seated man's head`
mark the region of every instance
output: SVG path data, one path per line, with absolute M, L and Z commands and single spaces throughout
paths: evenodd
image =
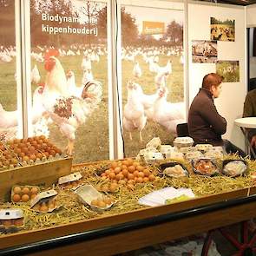
M 218 61 L 216 72 L 224 77 L 223 82 L 240 82 L 239 61 Z

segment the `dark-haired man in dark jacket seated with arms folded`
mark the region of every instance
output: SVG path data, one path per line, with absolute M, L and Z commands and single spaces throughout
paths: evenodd
M 205 75 L 202 88 L 194 97 L 188 111 L 188 132 L 195 144 L 212 144 L 222 146 L 226 153 L 238 153 L 246 157 L 246 153 L 221 135 L 226 133 L 226 119 L 222 117 L 214 105 L 213 99 L 221 92 L 222 77 L 215 73 Z

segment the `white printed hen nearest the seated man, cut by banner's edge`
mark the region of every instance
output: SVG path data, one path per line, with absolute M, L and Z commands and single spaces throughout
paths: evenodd
M 167 102 L 167 88 L 159 90 L 158 98 L 154 102 L 154 121 L 157 121 L 169 132 L 176 133 L 176 126 L 185 122 L 185 103 Z

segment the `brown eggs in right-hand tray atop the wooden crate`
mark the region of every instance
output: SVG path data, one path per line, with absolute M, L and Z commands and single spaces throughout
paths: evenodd
M 7 142 L 8 147 L 12 150 L 21 161 L 42 160 L 43 157 L 56 156 L 62 154 L 62 150 L 56 148 L 50 143 L 44 135 L 35 136 L 28 139 L 14 139 Z

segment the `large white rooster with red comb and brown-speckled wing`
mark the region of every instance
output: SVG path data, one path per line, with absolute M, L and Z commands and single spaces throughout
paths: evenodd
M 56 50 L 49 51 L 45 56 L 44 68 L 48 73 L 42 94 L 43 107 L 68 138 L 67 154 L 72 154 L 76 128 L 87 120 L 102 100 L 102 83 L 87 82 L 80 97 L 70 94 L 64 69 L 57 56 Z

